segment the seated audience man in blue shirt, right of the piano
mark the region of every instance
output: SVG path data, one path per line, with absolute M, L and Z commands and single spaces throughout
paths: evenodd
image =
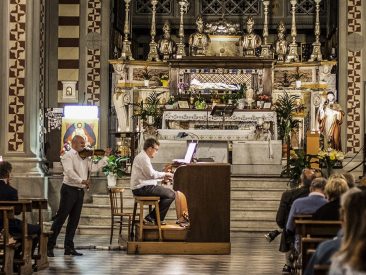
M 327 180 L 325 178 L 314 179 L 310 185 L 310 194 L 307 197 L 294 201 L 288 216 L 286 230 L 295 232 L 295 216 L 301 214 L 313 214 L 328 201 L 325 199 L 324 188 Z

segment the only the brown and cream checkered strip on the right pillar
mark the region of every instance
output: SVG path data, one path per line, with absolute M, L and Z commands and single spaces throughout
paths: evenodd
M 347 2 L 347 152 L 357 153 L 362 146 L 362 2 Z M 365 3 L 363 3 L 365 5 Z

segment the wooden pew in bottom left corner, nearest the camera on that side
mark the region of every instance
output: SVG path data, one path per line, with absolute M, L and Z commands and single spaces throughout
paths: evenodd
M 32 274 L 32 236 L 28 235 L 26 213 L 32 211 L 30 200 L 0 201 L 0 206 L 13 206 L 15 214 L 22 215 L 22 259 L 15 259 L 14 262 L 20 265 L 19 274 Z

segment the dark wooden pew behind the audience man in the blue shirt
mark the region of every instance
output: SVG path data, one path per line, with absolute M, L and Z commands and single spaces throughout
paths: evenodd
M 341 221 L 295 219 L 296 234 L 300 238 L 302 272 L 319 243 L 334 238 L 341 229 Z

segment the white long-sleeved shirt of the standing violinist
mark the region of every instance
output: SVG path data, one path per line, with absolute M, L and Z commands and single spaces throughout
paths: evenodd
M 98 163 L 94 164 L 91 158 L 82 159 L 79 153 L 71 149 L 61 156 L 61 163 L 64 169 L 63 183 L 69 186 L 84 188 L 83 180 L 88 179 L 88 172 L 97 172 L 107 164 L 107 157 L 103 157 Z

